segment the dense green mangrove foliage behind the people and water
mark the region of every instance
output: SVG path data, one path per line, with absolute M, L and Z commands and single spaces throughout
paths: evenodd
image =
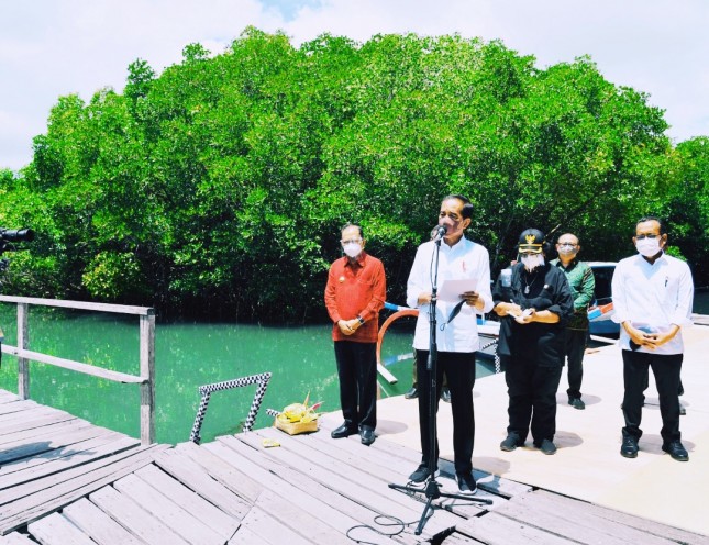
M 32 164 L 2 171 L 0 221 L 37 232 L 12 255 L 9 287 L 164 315 L 313 320 L 339 227 L 356 221 L 401 302 L 452 192 L 476 204 L 469 236 L 496 270 L 530 225 L 578 233 L 587 259 L 620 258 L 652 212 L 697 268 L 708 141 L 674 148 L 646 98 L 589 58 L 541 70 L 459 36 L 296 48 L 247 29 L 221 55 L 186 47 L 159 77 L 136 60 L 123 94 L 62 97 Z

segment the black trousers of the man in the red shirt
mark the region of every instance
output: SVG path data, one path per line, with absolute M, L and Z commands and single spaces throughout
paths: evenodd
M 340 405 L 350 427 L 377 427 L 377 344 L 335 341 Z

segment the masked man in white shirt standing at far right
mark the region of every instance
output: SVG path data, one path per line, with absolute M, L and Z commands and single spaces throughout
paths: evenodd
M 638 222 L 633 243 L 638 255 L 622 259 L 612 280 L 612 319 L 621 324 L 625 387 L 620 454 L 638 456 L 643 392 L 652 368 L 660 396 L 662 449 L 676 460 L 687 461 L 689 455 L 679 434 L 677 392 L 684 352 L 682 327 L 691 325 L 691 272 L 685 262 L 664 253 L 667 233 L 657 218 Z

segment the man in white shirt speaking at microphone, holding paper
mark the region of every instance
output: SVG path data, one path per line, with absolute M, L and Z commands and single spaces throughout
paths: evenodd
M 439 226 L 444 227 L 442 241 L 429 241 L 419 246 L 409 281 L 407 304 L 419 309 L 413 348 L 416 349 L 417 372 L 422 386 L 419 396 L 419 422 L 421 433 L 421 465 L 409 479 L 423 482 L 430 476 L 431 453 L 430 396 L 432 382 L 428 369 L 430 349 L 429 308 L 431 304 L 432 280 L 435 274 L 435 252 L 440 245 L 436 301 L 436 400 L 441 396 L 441 383 L 445 372 L 451 389 L 453 411 L 453 452 L 458 489 L 464 493 L 477 490 L 473 478 L 473 443 L 475 440 L 475 414 L 473 386 L 475 385 L 475 352 L 479 348 L 477 314 L 492 308 L 490 292 L 490 260 L 481 245 L 464 236 L 470 225 L 473 204 L 459 194 L 443 199 L 439 213 Z M 439 445 L 436 437 L 435 460 Z

